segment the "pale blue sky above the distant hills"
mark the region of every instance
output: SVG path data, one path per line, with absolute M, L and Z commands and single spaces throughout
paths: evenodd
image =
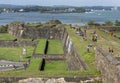
M 40 6 L 120 6 L 120 0 L 0 0 L 0 4 Z

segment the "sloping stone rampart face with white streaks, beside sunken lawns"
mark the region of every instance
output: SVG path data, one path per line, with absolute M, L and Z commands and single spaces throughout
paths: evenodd
M 67 32 L 64 32 L 62 42 L 64 53 L 66 55 L 68 70 L 88 70 L 88 66 L 83 61 L 82 57 L 78 54 L 78 51 L 76 50 Z

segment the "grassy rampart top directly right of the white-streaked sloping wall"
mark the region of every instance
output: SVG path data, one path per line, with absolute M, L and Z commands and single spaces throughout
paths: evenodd
M 93 48 L 90 49 L 90 52 L 87 52 L 86 46 L 91 44 L 92 42 L 90 40 L 83 40 L 83 38 L 76 34 L 74 29 L 70 29 L 69 26 L 66 26 L 67 32 L 70 36 L 70 39 L 75 45 L 75 48 L 79 55 L 83 58 L 85 63 L 88 65 L 89 70 L 87 72 L 96 75 L 99 73 L 99 71 L 95 67 L 95 52 Z M 88 74 L 89 74 L 88 73 Z

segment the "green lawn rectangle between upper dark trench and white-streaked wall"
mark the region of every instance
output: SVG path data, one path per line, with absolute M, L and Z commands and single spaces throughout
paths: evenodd
M 61 40 L 49 40 L 47 54 L 64 54 Z

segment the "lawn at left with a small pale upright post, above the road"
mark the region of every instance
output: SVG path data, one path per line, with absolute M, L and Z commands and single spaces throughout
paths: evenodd
M 0 47 L 0 59 L 11 61 L 26 61 L 32 56 L 34 47 L 24 47 L 27 49 L 26 56 L 22 56 L 22 47 Z

